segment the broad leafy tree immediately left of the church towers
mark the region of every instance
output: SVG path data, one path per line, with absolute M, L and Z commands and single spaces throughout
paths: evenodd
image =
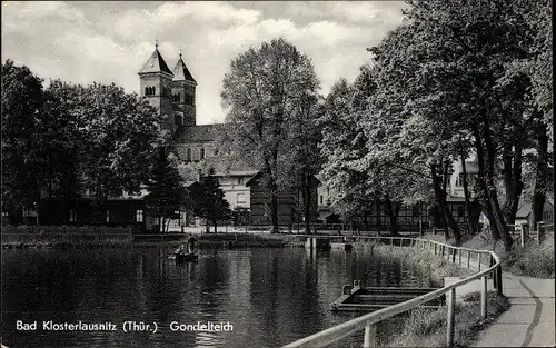
M 106 200 L 122 191 L 138 192 L 147 182 L 149 165 L 169 141 L 159 131 L 155 109 L 137 95 L 126 95 L 115 84 L 78 86 L 72 113 L 82 137 L 80 173 L 83 189 Z

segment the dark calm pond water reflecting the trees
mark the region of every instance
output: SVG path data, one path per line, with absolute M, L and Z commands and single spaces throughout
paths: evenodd
M 344 285 L 436 286 L 403 260 L 370 251 L 301 248 L 201 250 L 176 265 L 173 249 L 2 250 L 2 342 L 8 347 L 280 347 L 354 318 L 332 314 Z M 38 321 L 18 331 L 16 321 Z M 43 320 L 106 322 L 117 331 L 44 331 Z M 127 320 L 158 332 L 123 332 Z M 170 322 L 230 322 L 232 331 L 172 331 Z M 395 334 L 383 325 L 378 336 Z M 363 334 L 363 332 L 361 332 Z M 360 347 L 363 335 L 339 346 Z

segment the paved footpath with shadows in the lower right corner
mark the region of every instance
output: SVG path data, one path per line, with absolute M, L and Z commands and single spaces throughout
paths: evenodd
M 503 272 L 512 307 L 481 331 L 475 347 L 554 347 L 554 279 Z

